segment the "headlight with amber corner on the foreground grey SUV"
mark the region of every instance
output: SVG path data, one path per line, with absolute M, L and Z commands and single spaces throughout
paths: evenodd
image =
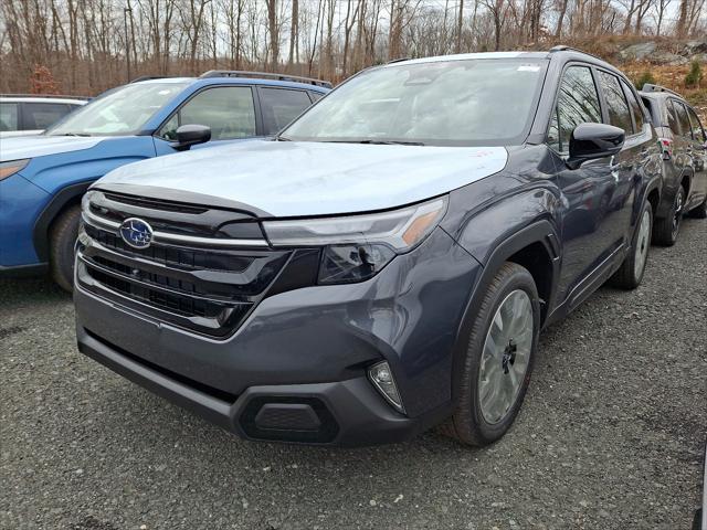
M 362 282 L 374 276 L 397 254 L 422 243 L 446 211 L 446 198 L 390 212 L 341 218 L 265 221 L 276 247 L 325 246 L 319 284 Z

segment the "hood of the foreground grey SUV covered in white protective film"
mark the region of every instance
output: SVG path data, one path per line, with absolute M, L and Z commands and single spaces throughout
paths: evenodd
M 97 188 L 213 204 L 261 216 L 331 215 L 423 201 L 494 174 L 503 147 L 246 141 L 118 168 Z

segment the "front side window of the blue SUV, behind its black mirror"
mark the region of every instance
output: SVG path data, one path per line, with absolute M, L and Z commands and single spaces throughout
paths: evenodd
M 212 140 L 255 136 L 253 92 L 249 86 L 219 86 L 202 91 L 167 120 L 158 136 L 176 140 L 180 125 L 211 127 Z

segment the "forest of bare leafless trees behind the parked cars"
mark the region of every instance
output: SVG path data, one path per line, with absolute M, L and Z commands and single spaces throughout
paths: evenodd
M 706 1 L 2 0 L 0 92 L 29 91 L 40 67 L 61 92 L 93 95 L 139 75 L 232 68 L 339 81 L 403 56 L 703 38 Z

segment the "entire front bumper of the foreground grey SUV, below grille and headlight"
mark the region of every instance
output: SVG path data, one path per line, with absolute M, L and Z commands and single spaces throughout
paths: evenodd
M 225 339 L 170 326 L 77 283 L 78 349 L 246 438 L 400 442 L 451 411 L 452 349 L 479 268 L 439 229 L 370 280 L 266 297 Z M 367 379 L 381 360 L 407 415 Z

